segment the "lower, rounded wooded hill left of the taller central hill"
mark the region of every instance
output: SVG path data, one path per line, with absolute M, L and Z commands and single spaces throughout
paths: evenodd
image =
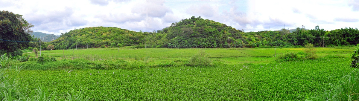
M 70 32 L 60 35 L 59 38 L 50 42 L 55 45 L 55 49 L 97 48 L 101 45 L 117 47 L 117 43 L 132 45 L 144 42 L 145 35 L 127 29 L 116 27 L 89 27 L 70 30 Z M 111 44 L 112 43 L 112 44 Z

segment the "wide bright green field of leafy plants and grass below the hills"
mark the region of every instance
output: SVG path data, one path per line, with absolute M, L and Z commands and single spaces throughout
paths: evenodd
M 186 65 L 199 50 L 212 66 Z M 41 53 L 56 62 L 12 62 L 23 69 L 7 73 L 29 99 L 40 87 L 59 100 L 79 92 L 89 100 L 324 100 L 316 98 L 358 69 L 349 67 L 352 49 L 316 50 L 318 59 L 288 62 L 276 61 L 274 48 L 52 50 Z M 303 48 L 276 48 L 288 52 Z

